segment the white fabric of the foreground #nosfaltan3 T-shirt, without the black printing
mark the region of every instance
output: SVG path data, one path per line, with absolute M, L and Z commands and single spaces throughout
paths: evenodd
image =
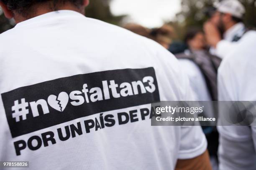
M 30 85 L 37 87 L 36 83 L 61 81 L 62 77 L 108 70 L 113 72 L 112 70 L 117 69 L 153 67 L 160 100 L 194 100 L 190 93 L 187 76 L 183 73 L 177 59 L 163 47 L 127 30 L 86 18 L 74 11 L 51 12 L 18 23 L 15 28 L 0 35 L 0 46 L 2 47 L 0 49 L 0 94 L 2 97 L 3 93 L 17 88 L 22 89 Z M 101 73 L 99 74 L 102 76 Z M 125 75 L 109 76 L 125 78 Z M 136 75 L 131 74 L 131 76 Z M 102 80 L 104 78 L 102 77 Z M 84 81 L 90 82 L 91 80 Z M 51 88 L 61 87 L 62 84 L 59 84 L 58 87 L 52 86 Z M 70 88 L 72 88 L 72 82 L 70 82 Z M 18 90 L 16 91 L 19 92 Z M 42 87 L 38 90 L 43 95 L 49 89 Z M 24 95 L 27 94 L 24 93 Z M 51 95 L 50 98 L 52 97 L 54 96 Z M 61 111 L 64 108 L 61 103 L 63 100 L 59 97 L 56 102 L 58 100 L 58 104 L 61 105 L 59 111 Z M 122 100 L 125 100 L 125 97 L 120 98 L 118 103 Z M 143 100 L 141 98 L 141 101 Z M 36 150 L 31 150 L 27 146 L 17 156 L 14 142 L 24 140 L 28 143 L 31 136 L 41 138 L 41 134 L 47 131 L 56 134 L 58 128 L 64 129 L 65 126 L 76 125 L 77 122 L 99 119 L 101 114 L 80 117 L 12 138 L 5 115 L 5 109 L 10 108 L 4 109 L 3 102 L 4 100 L 0 98 L 0 160 L 30 161 L 29 169 L 31 170 L 173 170 L 177 159 L 195 158 L 204 153 L 207 148 L 205 136 L 199 126 L 153 127 L 149 117 L 142 120 L 138 116 L 139 121 L 128 122 L 125 125 L 116 123 L 112 127 L 97 131 L 91 129 L 90 133 L 85 133 L 83 129 L 82 135 L 66 141 L 61 141 L 58 136 L 54 136 L 56 140 L 54 145 L 49 141 L 48 146 L 45 147 L 42 144 Z M 102 105 L 104 103 L 105 101 Z M 69 106 L 70 103 L 67 105 Z M 104 115 L 112 114 L 118 121 L 117 113 L 141 108 L 150 110 L 151 105 L 150 103 L 134 105 L 103 113 Z M 84 112 L 87 112 L 86 109 Z M 46 115 L 51 115 L 51 112 Z M 42 116 L 45 115 L 38 117 Z M 49 119 L 49 122 L 54 121 Z M 33 146 L 37 145 L 36 141 L 32 142 Z

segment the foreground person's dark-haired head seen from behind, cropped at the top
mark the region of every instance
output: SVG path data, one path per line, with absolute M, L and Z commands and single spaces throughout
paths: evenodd
M 84 13 L 89 0 L 0 0 L 6 18 L 16 23 L 56 10 L 75 10 Z

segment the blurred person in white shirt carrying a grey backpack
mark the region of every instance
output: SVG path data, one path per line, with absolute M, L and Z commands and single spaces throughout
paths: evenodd
M 184 40 L 189 47 L 184 53 L 175 55 L 189 76 L 197 101 L 218 100 L 217 70 L 220 59 L 207 52 L 205 34 L 198 28 L 189 28 Z M 214 108 L 205 110 L 204 117 L 217 117 Z M 202 126 L 208 141 L 212 169 L 218 170 L 218 132 L 216 127 Z

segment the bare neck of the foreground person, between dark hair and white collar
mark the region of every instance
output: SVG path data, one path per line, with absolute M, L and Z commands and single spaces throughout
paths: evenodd
M 43 14 L 50 13 L 50 12 L 54 11 L 48 5 L 34 6 L 33 9 L 35 10 L 35 12 L 33 12 L 31 15 L 29 15 L 29 17 L 23 17 L 22 15 L 20 15 L 18 13 L 14 13 L 13 18 L 15 20 L 15 23 L 20 23 L 20 22 L 28 20 L 30 18 L 34 18 L 34 17 L 37 17 L 39 15 L 43 15 Z M 73 11 L 76 11 L 78 13 L 84 14 L 84 10 L 82 8 L 79 9 L 79 8 L 75 7 L 74 5 L 70 5 L 70 4 L 62 5 L 61 7 L 58 7 L 57 10 L 73 10 Z

